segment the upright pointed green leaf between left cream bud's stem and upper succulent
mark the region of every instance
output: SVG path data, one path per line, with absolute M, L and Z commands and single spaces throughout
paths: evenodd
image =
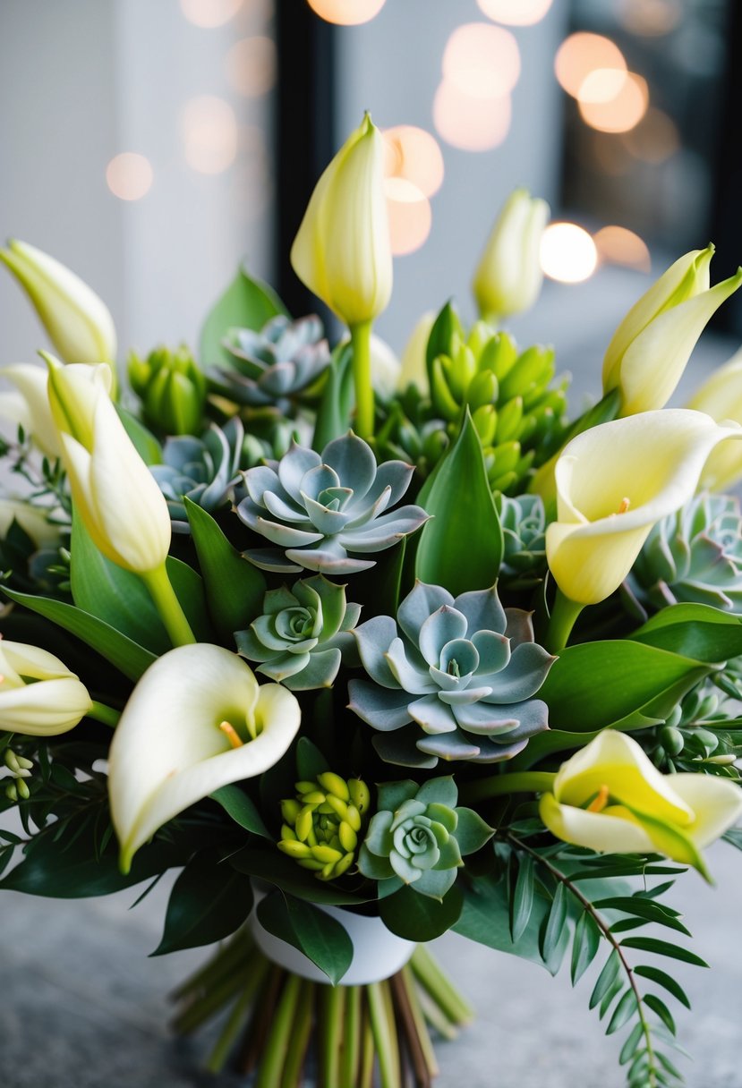
M 207 605 L 219 634 L 232 642 L 262 611 L 267 582 L 257 567 L 243 559 L 214 519 L 189 498 L 184 499 Z

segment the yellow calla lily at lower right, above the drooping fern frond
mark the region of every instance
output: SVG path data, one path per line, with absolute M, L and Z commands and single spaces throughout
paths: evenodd
M 636 741 L 607 729 L 561 765 L 540 814 L 566 842 L 661 853 L 706 876 L 701 850 L 742 815 L 742 789 L 712 775 L 661 775 Z

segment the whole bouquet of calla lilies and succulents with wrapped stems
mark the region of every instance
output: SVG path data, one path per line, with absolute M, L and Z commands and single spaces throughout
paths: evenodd
M 503 329 L 546 217 L 514 194 L 481 319 L 446 305 L 396 374 L 369 118 L 292 251 L 332 349 L 240 270 L 198 360 L 132 354 L 126 390 L 100 299 L 0 252 L 55 349 L 2 370 L 0 887 L 180 869 L 154 954 L 220 944 L 176 1027 L 222 1014 L 210 1066 L 261 1088 L 429 1084 L 429 1028 L 470 1015 L 424 948 L 449 929 L 592 972 L 629 1085 L 680 1076 L 672 882 L 742 845 L 742 363 L 664 406 L 742 273 L 677 260 L 569 422 L 553 350 Z

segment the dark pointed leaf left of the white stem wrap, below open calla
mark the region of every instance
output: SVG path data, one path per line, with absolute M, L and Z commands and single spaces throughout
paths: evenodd
M 150 955 L 221 941 L 246 922 L 252 910 L 250 878 L 201 851 L 173 885 L 162 940 Z

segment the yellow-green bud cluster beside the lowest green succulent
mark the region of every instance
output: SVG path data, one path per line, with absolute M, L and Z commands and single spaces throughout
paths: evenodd
M 358 778 L 347 781 L 327 770 L 296 783 L 296 798 L 281 802 L 279 850 L 320 880 L 347 873 L 356 856 L 371 793 Z

